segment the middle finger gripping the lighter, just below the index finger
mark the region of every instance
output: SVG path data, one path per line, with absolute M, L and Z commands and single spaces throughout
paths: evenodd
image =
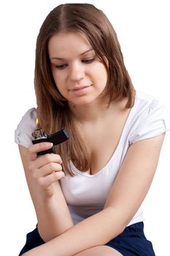
M 36 159 L 34 162 L 34 167 L 39 169 L 40 167 L 47 165 L 50 162 L 56 162 L 61 165 L 61 156 L 59 154 L 44 154 L 43 156 Z

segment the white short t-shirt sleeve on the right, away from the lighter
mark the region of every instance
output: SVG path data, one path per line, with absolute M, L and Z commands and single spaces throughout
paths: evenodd
M 161 135 L 170 130 L 170 116 L 166 106 L 158 99 L 153 99 L 150 105 L 140 113 L 131 132 L 130 145 L 148 138 Z

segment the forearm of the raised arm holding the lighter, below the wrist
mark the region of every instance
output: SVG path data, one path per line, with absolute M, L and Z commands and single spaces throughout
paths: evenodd
M 39 235 L 47 242 L 61 235 L 73 226 L 69 208 L 61 192 L 58 181 L 55 182 L 55 194 L 44 199 L 39 196 L 34 199 L 34 207 L 38 221 Z

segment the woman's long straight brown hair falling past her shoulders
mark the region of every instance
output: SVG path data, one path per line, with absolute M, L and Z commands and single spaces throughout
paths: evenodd
M 69 140 L 56 146 L 63 160 L 63 169 L 73 175 L 68 163 L 72 159 L 81 171 L 90 167 L 90 157 L 80 132 L 72 121 L 66 99 L 59 93 L 53 80 L 48 56 L 48 42 L 59 32 L 85 34 L 96 55 L 107 68 L 107 86 L 104 95 L 109 102 L 127 98 L 126 108 L 134 102 L 134 87 L 125 69 L 123 54 L 112 24 L 104 12 L 92 4 L 61 4 L 45 19 L 36 41 L 35 90 L 39 123 L 45 132 L 67 129 Z M 107 59 L 107 61 L 106 61 Z

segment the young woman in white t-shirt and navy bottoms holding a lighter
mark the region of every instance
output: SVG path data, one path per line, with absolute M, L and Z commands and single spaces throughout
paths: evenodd
M 37 108 L 15 131 L 37 216 L 20 255 L 155 255 L 142 209 L 158 164 L 166 108 L 135 91 L 117 36 L 91 4 L 62 4 L 45 19 L 36 43 Z M 66 129 L 32 145 L 32 132 Z

